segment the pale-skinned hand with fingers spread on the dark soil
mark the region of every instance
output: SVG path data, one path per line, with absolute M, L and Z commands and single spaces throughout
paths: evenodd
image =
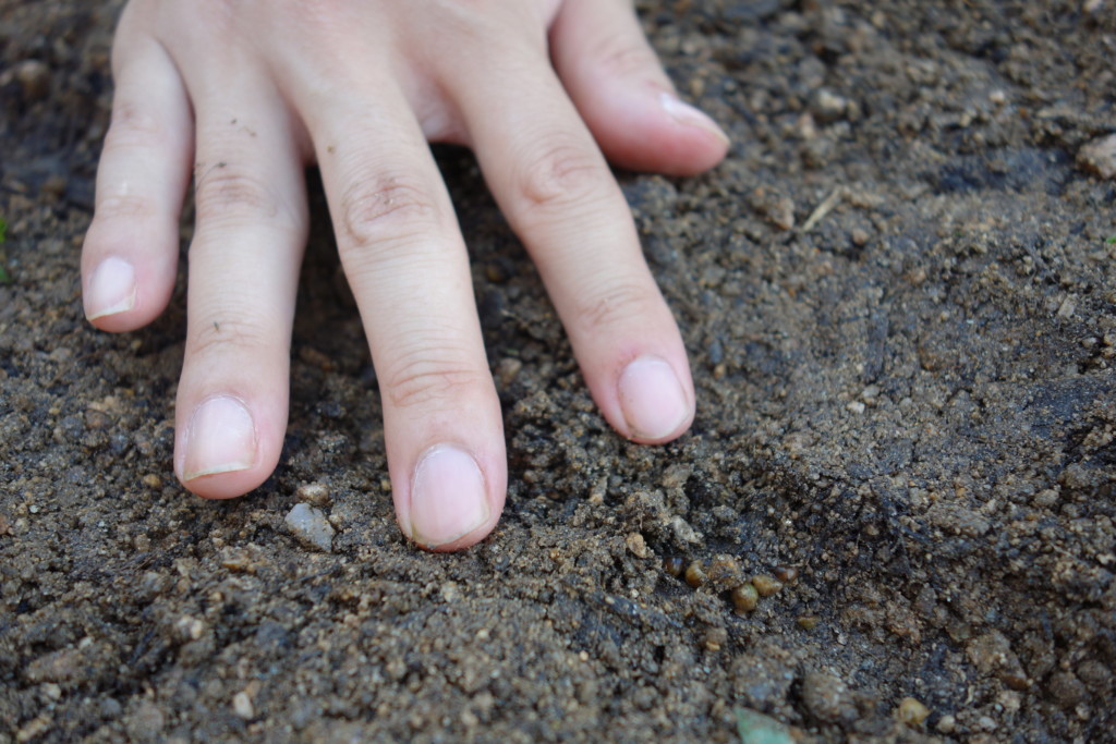
M 496 525 L 500 406 L 427 141 L 477 153 L 609 424 L 645 444 L 690 426 L 682 339 L 605 156 L 689 175 L 728 141 L 674 95 L 629 0 L 133 0 L 113 68 L 85 310 L 127 331 L 166 307 L 193 173 L 174 456 L 189 490 L 237 496 L 278 463 L 317 163 L 379 379 L 400 528 L 455 550 Z

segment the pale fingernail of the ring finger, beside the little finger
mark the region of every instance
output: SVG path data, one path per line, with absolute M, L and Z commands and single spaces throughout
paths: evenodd
M 182 480 L 234 473 L 256 464 L 256 424 L 240 400 L 222 395 L 198 406 L 186 426 Z

